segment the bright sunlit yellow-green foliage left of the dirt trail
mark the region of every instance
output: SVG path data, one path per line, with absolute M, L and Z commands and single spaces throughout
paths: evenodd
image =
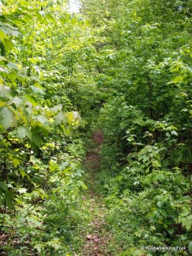
M 1 253 L 78 247 L 91 42 L 65 1 L 0 2 Z

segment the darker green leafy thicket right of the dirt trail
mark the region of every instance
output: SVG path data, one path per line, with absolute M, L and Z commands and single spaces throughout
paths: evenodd
M 192 3 L 91 1 L 83 13 L 100 29 L 95 80 L 108 94 L 101 110 L 108 221 L 125 255 L 188 255 Z M 185 251 L 144 250 L 155 245 Z

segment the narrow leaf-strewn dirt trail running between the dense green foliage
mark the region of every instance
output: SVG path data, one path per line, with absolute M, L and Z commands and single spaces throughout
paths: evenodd
M 86 256 L 104 256 L 113 255 L 110 253 L 108 245 L 112 242 L 111 232 L 106 230 L 105 217 L 108 209 L 105 207 L 104 199 L 101 194 L 96 192 L 96 172 L 100 167 L 103 134 L 96 131 L 92 137 L 95 144 L 87 154 L 85 168 L 88 170 L 86 183 L 88 190 L 84 199 L 89 201 L 92 220 L 89 224 L 89 232 L 86 234 L 86 241 L 80 255 Z

